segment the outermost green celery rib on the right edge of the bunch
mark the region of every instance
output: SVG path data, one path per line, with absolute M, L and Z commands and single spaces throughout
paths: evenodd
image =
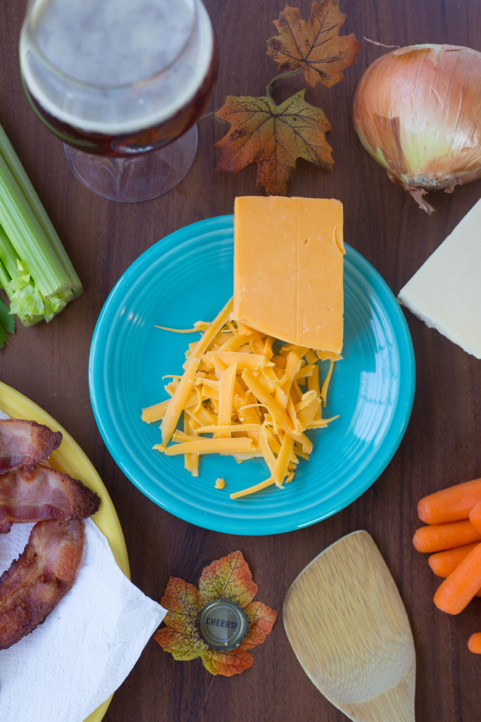
M 23 195 L 25 196 L 25 199 L 30 205 L 33 214 L 37 218 L 40 227 L 42 228 L 45 236 L 50 241 L 50 247 L 56 253 L 56 256 L 61 262 L 64 271 L 69 276 L 71 289 L 73 292 L 70 300 L 74 300 L 74 298 L 78 297 L 82 292 L 80 279 L 76 274 L 74 266 L 72 265 L 65 248 L 63 248 L 63 243 L 58 237 L 58 233 L 53 227 L 53 224 L 50 221 L 50 218 L 48 217 L 45 208 L 43 207 L 42 201 L 40 201 L 40 198 L 37 195 L 37 191 L 35 191 L 35 188 L 32 186 L 32 182 L 30 181 L 30 178 L 28 177 L 25 168 L 22 165 L 22 162 L 19 160 L 19 157 L 17 156 L 17 153 L 15 152 L 14 147 L 9 141 L 9 138 L 6 135 L 6 132 L 2 128 L 1 124 L 0 155 L 4 158 L 6 165 L 12 173 Z

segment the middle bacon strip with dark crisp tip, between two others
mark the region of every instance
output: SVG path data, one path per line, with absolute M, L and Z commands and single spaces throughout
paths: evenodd
M 85 519 L 100 505 L 95 492 L 67 474 L 39 464 L 0 475 L 0 534 L 12 524 L 43 519 Z

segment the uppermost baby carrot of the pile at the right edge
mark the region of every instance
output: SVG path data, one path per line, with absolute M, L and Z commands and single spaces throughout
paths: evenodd
M 467 519 L 481 501 L 481 478 L 455 484 L 423 497 L 418 502 L 418 516 L 426 524 L 444 524 Z

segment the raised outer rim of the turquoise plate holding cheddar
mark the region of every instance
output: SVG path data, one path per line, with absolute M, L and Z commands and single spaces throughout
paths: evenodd
M 226 534 L 266 536 L 269 534 L 281 534 L 287 531 L 295 531 L 296 529 L 304 529 L 306 526 L 312 526 L 312 524 L 318 523 L 325 518 L 333 516 L 335 513 L 342 510 L 343 508 L 346 508 L 348 505 L 353 503 L 353 501 L 358 499 L 358 497 L 360 497 L 364 492 L 366 492 L 367 489 L 369 489 L 369 487 L 371 487 L 372 484 L 374 484 L 374 482 L 376 482 L 376 479 L 379 479 L 384 469 L 386 469 L 387 465 L 392 460 L 394 454 L 397 451 L 397 448 L 399 448 L 399 445 L 405 435 L 405 430 L 410 419 L 415 394 L 415 356 L 414 349 L 412 347 L 412 339 L 410 336 L 409 328 L 407 326 L 407 322 L 405 320 L 405 316 L 402 313 L 400 305 L 397 303 L 396 297 L 392 293 L 392 290 L 381 277 L 379 271 L 377 271 L 374 266 L 372 266 L 372 264 L 369 263 L 369 261 L 367 261 L 364 256 L 362 256 L 361 253 L 356 251 L 355 248 L 348 245 L 348 243 L 345 243 L 346 253 L 348 253 L 349 257 L 352 256 L 352 258 L 355 259 L 356 266 L 358 269 L 361 269 L 363 277 L 369 280 L 369 284 L 372 287 L 380 287 L 382 293 L 389 299 L 389 303 L 391 303 L 392 305 L 392 310 L 394 311 L 394 313 L 388 314 L 389 321 L 392 324 L 394 337 L 397 342 L 397 350 L 400 354 L 400 367 L 402 369 L 402 373 L 407 377 L 403 380 L 405 393 L 399 396 L 397 400 L 397 406 L 393 414 L 392 422 L 389 425 L 389 443 L 387 439 L 385 439 L 383 445 L 376 453 L 376 456 L 371 460 L 370 473 L 364 474 L 364 482 L 362 484 L 356 485 L 351 490 L 350 494 L 345 494 L 337 505 L 332 505 L 324 513 L 318 513 L 317 515 L 315 515 L 315 507 L 310 507 L 309 509 L 312 510 L 313 516 L 311 516 L 310 518 L 304 518 L 302 520 L 296 521 L 296 516 L 293 512 L 290 517 L 291 523 L 283 523 L 280 528 L 277 528 L 275 526 L 275 523 L 273 524 L 269 520 L 268 525 L 266 525 L 265 528 L 260 529 L 258 525 L 262 523 L 262 518 L 255 519 L 255 529 L 252 528 L 250 519 L 248 518 L 244 519 L 243 523 L 238 522 L 237 525 L 233 525 L 231 517 L 228 518 L 225 524 L 222 524 L 222 518 L 218 517 L 215 517 L 215 521 L 217 521 L 218 523 L 214 523 L 213 520 L 208 518 L 208 515 L 206 515 L 206 518 L 202 518 L 202 521 L 200 521 L 200 518 L 198 518 L 198 516 L 195 516 L 195 518 L 193 518 L 192 515 L 188 513 L 186 515 L 182 515 L 182 513 L 179 513 L 179 510 L 177 509 L 175 504 L 172 505 L 172 503 L 166 503 L 165 500 L 159 500 L 159 498 L 149 492 L 148 488 L 144 487 L 141 479 L 135 477 L 133 471 L 131 471 L 130 465 L 128 464 L 130 458 L 128 454 L 123 453 L 111 442 L 107 424 L 109 420 L 108 414 L 107 422 L 103 421 L 103 400 L 101 398 L 101 394 L 96 393 L 94 379 L 95 358 L 97 354 L 97 348 L 99 348 L 101 345 L 102 324 L 104 322 L 107 323 L 106 319 L 107 316 L 111 313 L 111 307 L 113 307 L 112 310 L 115 313 L 115 310 L 118 308 L 116 304 L 118 300 L 118 295 L 122 292 L 124 287 L 128 287 L 130 279 L 132 277 L 135 277 L 136 271 L 139 269 L 140 266 L 144 266 L 144 264 L 149 264 L 152 258 L 155 258 L 157 261 L 160 258 L 167 257 L 170 251 L 177 251 L 180 243 L 195 240 L 195 238 L 198 238 L 199 235 L 203 235 L 203 233 L 198 233 L 199 230 L 202 230 L 203 232 L 206 231 L 209 234 L 211 234 L 211 232 L 215 232 L 216 230 L 233 230 L 233 218 L 234 217 L 232 214 L 225 214 L 202 219 L 190 223 L 189 225 L 180 227 L 179 229 L 164 236 L 164 238 L 156 241 L 156 243 L 154 243 L 153 245 L 151 245 L 150 248 L 147 248 L 146 251 L 141 253 L 141 255 L 138 256 L 138 258 L 136 258 L 135 261 L 133 261 L 127 269 L 125 269 L 125 271 L 115 283 L 114 287 L 112 287 L 112 290 L 107 296 L 107 299 L 105 300 L 105 303 L 102 307 L 102 310 L 100 311 L 99 317 L 97 318 L 97 322 L 94 327 L 88 365 L 89 394 L 97 427 L 100 430 L 100 434 L 102 436 L 102 439 L 104 440 L 105 445 L 107 446 L 108 451 L 110 452 L 110 455 L 114 459 L 115 463 L 119 466 L 119 468 L 123 471 L 125 476 L 143 495 L 149 498 L 149 500 L 153 501 L 156 505 L 163 508 L 167 512 L 172 513 L 173 516 L 177 516 L 178 518 L 181 518 L 188 523 L 193 523 L 195 526 L 200 526 L 203 529 L 210 529 L 211 531 L 219 531 Z M 198 509 L 198 514 L 204 512 L 205 510 L 203 510 L 202 508 Z M 236 521 L 238 521 L 237 518 Z M 227 527 L 229 527 L 229 529 Z

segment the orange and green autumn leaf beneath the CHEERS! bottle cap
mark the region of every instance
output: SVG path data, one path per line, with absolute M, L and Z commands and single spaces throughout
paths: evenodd
M 166 626 L 155 633 L 154 639 L 175 659 L 187 661 L 200 657 L 211 674 L 225 677 L 239 674 L 254 662 L 247 650 L 262 644 L 278 617 L 278 612 L 269 606 L 252 601 L 257 590 L 242 552 L 232 552 L 206 567 L 200 575 L 198 589 L 183 579 L 171 577 L 161 599 L 162 606 L 169 610 L 164 617 Z M 213 648 L 200 633 L 203 609 L 215 600 L 234 605 L 242 618 L 247 619 L 247 633 L 234 649 Z M 225 619 L 217 622 L 223 628 L 234 625 Z

